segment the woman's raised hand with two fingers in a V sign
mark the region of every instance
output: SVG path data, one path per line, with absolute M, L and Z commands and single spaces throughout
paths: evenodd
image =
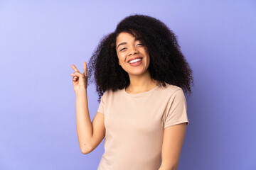
M 74 64 L 71 65 L 71 67 L 74 69 L 74 73 L 70 74 L 73 76 L 73 86 L 75 93 L 80 91 L 80 89 L 87 89 L 87 64 L 86 62 L 83 62 L 83 74 L 81 74 L 77 67 L 75 67 Z

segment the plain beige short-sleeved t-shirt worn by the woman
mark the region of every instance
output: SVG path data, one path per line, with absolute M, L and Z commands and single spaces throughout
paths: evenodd
M 97 112 L 105 115 L 105 153 L 97 170 L 158 170 L 164 128 L 187 123 L 183 90 L 171 84 L 140 93 L 107 90 Z

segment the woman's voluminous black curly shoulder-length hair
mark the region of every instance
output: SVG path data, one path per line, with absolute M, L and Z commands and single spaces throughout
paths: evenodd
M 116 91 L 129 85 L 129 75 L 119 65 L 116 51 L 117 36 L 122 32 L 142 38 L 149 50 L 151 79 L 160 86 L 172 84 L 191 94 L 192 70 L 181 53 L 176 35 L 158 19 L 135 14 L 124 18 L 113 33 L 100 40 L 87 64 L 88 84 L 94 75 L 98 102 L 108 89 Z

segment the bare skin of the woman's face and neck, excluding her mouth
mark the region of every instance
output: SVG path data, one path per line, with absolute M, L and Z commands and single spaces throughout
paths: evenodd
M 130 84 L 126 91 L 137 94 L 156 87 L 156 81 L 151 79 L 149 73 L 150 57 L 146 45 L 141 40 L 135 40 L 129 33 L 119 33 L 116 47 L 119 65 L 129 74 Z M 134 57 L 143 57 L 142 64 L 132 67 L 128 61 Z

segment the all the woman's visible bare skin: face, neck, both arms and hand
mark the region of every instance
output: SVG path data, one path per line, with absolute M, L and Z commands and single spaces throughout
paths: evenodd
M 125 42 L 123 45 L 120 43 Z M 119 46 L 118 46 L 119 45 Z M 129 74 L 130 84 L 126 91 L 129 94 L 149 91 L 156 86 L 156 82 L 149 74 L 150 57 L 145 45 L 141 45 L 139 40 L 129 33 L 120 33 L 116 41 L 117 57 L 119 65 Z M 143 57 L 142 64 L 137 67 L 129 65 L 128 60 L 134 57 Z M 96 113 L 90 122 L 90 115 L 87 103 L 87 64 L 83 63 L 83 74 L 81 74 L 74 64 L 73 86 L 76 94 L 76 123 L 78 141 L 82 154 L 92 152 L 105 137 L 105 115 Z M 186 123 L 172 125 L 164 129 L 163 145 L 161 148 L 161 166 L 159 170 L 178 169 L 178 161 L 181 154 L 183 140 L 186 134 Z

